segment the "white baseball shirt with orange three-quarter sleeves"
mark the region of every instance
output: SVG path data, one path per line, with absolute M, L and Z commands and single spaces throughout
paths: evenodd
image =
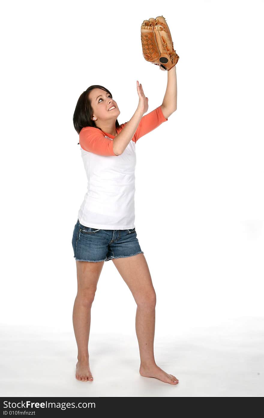
M 113 135 L 96 127 L 80 131 L 80 150 L 88 180 L 78 212 L 80 224 L 98 229 L 135 227 L 136 141 L 166 120 L 161 106 L 144 115 L 121 155 L 113 152 Z M 127 123 L 116 128 L 117 134 Z

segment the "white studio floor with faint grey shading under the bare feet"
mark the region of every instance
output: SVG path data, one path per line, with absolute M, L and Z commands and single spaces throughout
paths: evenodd
M 91 334 L 93 382 L 75 379 L 72 332 L 1 325 L 1 396 L 206 396 L 264 395 L 264 318 L 230 319 L 217 327 L 155 335 L 158 366 L 176 386 L 138 373 L 134 336 Z

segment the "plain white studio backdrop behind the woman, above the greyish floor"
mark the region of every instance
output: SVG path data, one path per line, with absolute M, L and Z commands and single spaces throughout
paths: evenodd
M 92 84 L 111 91 L 120 124 L 136 110 L 136 80 L 148 112 L 162 103 L 167 72 L 144 60 L 140 37 L 158 15 L 180 58 L 177 111 L 136 144 L 135 225 L 157 295 L 155 341 L 167 347 L 181 331 L 243 318 L 254 329 L 263 318 L 263 11 L 263 1 L 3 4 L 3 329 L 66 332 L 77 361 L 71 239 L 87 184 L 73 112 Z M 105 263 L 91 349 L 96 333 L 136 342 L 135 314 Z

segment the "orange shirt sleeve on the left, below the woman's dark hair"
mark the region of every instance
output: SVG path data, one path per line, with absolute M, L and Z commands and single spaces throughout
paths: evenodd
M 84 127 L 79 133 L 80 146 L 85 151 L 98 155 L 116 155 L 113 140 L 105 138 L 103 132 L 95 127 Z M 116 155 L 117 156 L 117 155 Z

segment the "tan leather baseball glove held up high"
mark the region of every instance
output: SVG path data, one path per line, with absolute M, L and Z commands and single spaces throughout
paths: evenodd
M 174 51 L 171 32 L 162 15 L 143 21 L 141 43 L 143 57 L 161 70 L 168 71 L 177 64 L 179 55 Z

